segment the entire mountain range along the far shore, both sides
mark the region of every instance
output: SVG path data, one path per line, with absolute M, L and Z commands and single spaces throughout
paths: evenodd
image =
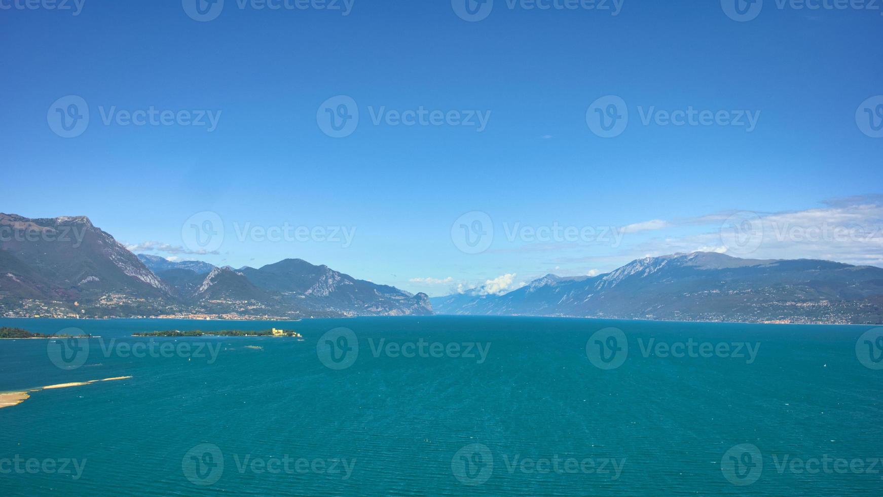
M 234 269 L 136 256 L 84 216 L 0 214 L 0 315 L 297 319 L 432 313 L 879 324 L 883 268 L 678 253 L 633 260 L 603 275 L 545 275 L 502 295 L 475 289 L 430 299 L 306 260 Z

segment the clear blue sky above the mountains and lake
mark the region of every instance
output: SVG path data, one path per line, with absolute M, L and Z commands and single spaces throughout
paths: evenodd
M 470 22 L 459 0 L 355 0 L 348 15 L 226 0 L 200 22 L 188 1 L 86 0 L 77 15 L 0 2 L 11 5 L 0 10 L 0 210 L 88 215 L 136 251 L 233 267 L 298 257 L 430 295 L 699 248 L 883 263 L 883 139 L 860 124 L 863 105 L 878 123 L 883 104 L 879 10 L 766 0 L 740 22 L 719 2 L 625 0 L 612 15 L 495 0 Z M 64 138 L 52 119 L 69 95 L 89 119 Z M 359 114 L 343 138 L 321 124 L 337 95 Z M 608 95 L 629 120 L 603 138 L 587 119 Z M 176 117 L 128 123 L 125 113 L 148 109 Z M 444 122 L 396 124 L 396 112 L 419 109 Z M 659 114 L 688 109 L 724 120 L 673 125 Z M 477 116 L 484 129 L 464 125 Z M 736 124 L 747 116 L 751 129 Z M 767 233 L 748 253 L 721 242 L 721 223 L 743 211 Z M 223 228 L 211 251 L 182 236 L 202 212 Z M 479 253 L 452 236 L 472 212 L 494 232 Z M 870 236 L 781 236 L 782 223 L 826 221 Z M 285 226 L 328 230 L 239 236 Z M 507 236 L 514 226 L 595 234 Z M 621 240 L 599 239 L 605 227 Z M 349 243 L 326 239 L 335 229 L 350 230 Z

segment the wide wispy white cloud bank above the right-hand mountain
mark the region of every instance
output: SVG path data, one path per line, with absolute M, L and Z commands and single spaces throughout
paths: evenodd
M 622 247 L 596 255 L 561 246 L 551 262 L 606 272 L 647 255 L 721 252 L 748 259 L 824 259 L 883 267 L 883 195 L 820 203 L 822 207 L 780 212 L 720 211 L 666 221 L 664 227 L 659 220 L 638 222 L 630 226 L 659 229 L 637 241 L 625 237 Z

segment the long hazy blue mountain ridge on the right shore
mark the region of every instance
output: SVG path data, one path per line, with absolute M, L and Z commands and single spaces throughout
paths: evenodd
M 592 277 L 546 275 L 503 295 L 431 301 L 442 314 L 879 324 L 883 268 L 692 252 L 633 260 Z

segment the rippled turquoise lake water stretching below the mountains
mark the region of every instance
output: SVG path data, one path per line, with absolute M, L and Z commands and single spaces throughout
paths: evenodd
M 101 335 L 0 341 L 0 391 L 132 376 L 0 409 L 2 495 L 883 494 L 873 327 L 445 316 L 0 326 Z M 272 326 L 304 339 L 131 336 Z

